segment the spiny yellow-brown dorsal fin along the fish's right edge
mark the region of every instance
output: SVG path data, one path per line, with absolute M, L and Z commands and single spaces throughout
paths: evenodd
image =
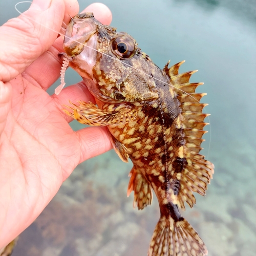
M 193 207 L 196 199 L 193 192 L 205 195 L 207 184 L 210 183 L 212 174 L 214 174 L 214 165 L 205 160 L 199 152 L 202 150 L 201 143 L 204 141 L 202 136 L 206 133 L 204 118 L 209 114 L 202 113 L 207 105 L 200 103 L 201 98 L 206 93 L 196 93 L 196 88 L 202 85 L 199 83 L 190 83 L 189 78 L 196 71 L 190 71 L 179 74 L 179 68 L 185 61 L 181 61 L 168 68 L 169 61 L 163 68 L 163 72 L 169 77 L 172 90 L 177 94 L 180 101 L 179 122 L 184 132 L 185 144 L 183 146 L 183 155 L 187 164 L 181 172 L 180 188 L 178 193 L 178 205 L 185 209 L 184 202 Z

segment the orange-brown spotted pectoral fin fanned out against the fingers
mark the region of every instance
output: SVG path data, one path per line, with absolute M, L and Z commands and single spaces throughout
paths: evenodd
M 70 102 L 71 103 L 71 102 Z M 80 105 L 71 103 L 67 108 L 72 111 L 64 110 L 69 116 L 72 116 L 82 124 L 93 126 L 104 126 L 109 124 L 124 124 L 132 121 L 136 117 L 136 111 L 125 104 L 120 104 L 116 108 L 106 108 L 101 110 L 92 102 L 79 101 Z

